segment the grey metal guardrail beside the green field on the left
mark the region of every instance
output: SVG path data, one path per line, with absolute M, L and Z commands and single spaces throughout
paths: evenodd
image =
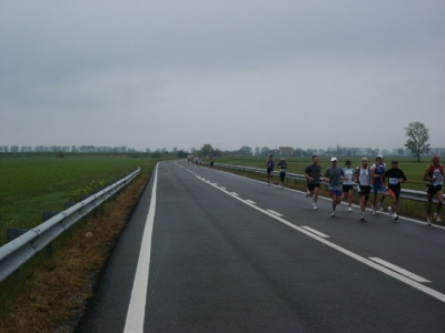
M 42 224 L 29 230 L 0 248 L 0 282 L 7 279 L 34 254 L 44 249 L 77 221 L 129 184 L 140 173 L 140 168 L 108 188 L 88 196 Z

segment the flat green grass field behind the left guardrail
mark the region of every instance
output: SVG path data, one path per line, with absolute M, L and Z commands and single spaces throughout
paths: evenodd
M 63 211 L 66 202 L 106 188 L 141 168 L 149 172 L 157 159 L 128 155 L 0 158 L 0 245 L 8 228 L 31 229 L 43 211 Z

